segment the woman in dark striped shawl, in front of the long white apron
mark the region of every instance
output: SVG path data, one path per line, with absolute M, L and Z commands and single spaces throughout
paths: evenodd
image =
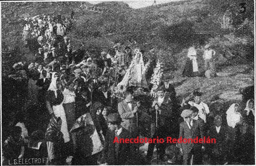
M 61 117 L 53 116 L 45 133 L 45 141 L 47 145 L 48 157 L 51 165 L 65 164 L 64 156 L 64 139 L 61 132 L 62 121 Z

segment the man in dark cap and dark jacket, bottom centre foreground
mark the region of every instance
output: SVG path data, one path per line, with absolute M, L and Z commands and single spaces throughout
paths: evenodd
M 108 132 L 103 149 L 103 162 L 107 165 L 132 165 L 134 152 L 130 143 L 113 143 L 115 139 L 130 139 L 129 131 L 121 125 L 121 117 L 117 113 L 108 115 Z

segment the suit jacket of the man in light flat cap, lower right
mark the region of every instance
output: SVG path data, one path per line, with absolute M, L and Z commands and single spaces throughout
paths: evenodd
M 198 139 L 203 138 L 202 127 L 200 127 L 200 121 L 193 119 L 193 128 L 190 130 L 186 121 L 180 123 L 180 134 L 179 138 L 182 139 Z M 197 143 L 178 143 L 178 147 L 182 148 L 183 155 L 188 155 L 193 148 L 200 148 L 200 144 Z

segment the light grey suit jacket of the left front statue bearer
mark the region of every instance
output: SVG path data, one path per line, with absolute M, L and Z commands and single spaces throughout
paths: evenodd
M 118 113 L 122 118 L 122 126 L 129 130 L 130 132 L 134 132 L 136 130 L 136 114 L 132 113 L 135 105 L 132 104 L 132 110 L 129 109 L 128 103 L 124 100 L 118 103 Z

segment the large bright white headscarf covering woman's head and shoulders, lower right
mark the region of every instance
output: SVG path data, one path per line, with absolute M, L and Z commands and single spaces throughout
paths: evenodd
M 233 127 L 233 128 L 235 128 L 236 124 L 240 121 L 240 117 L 241 117 L 241 114 L 239 112 L 235 113 L 235 105 L 236 104 L 237 103 L 232 104 L 228 108 L 228 111 L 226 111 L 228 126 Z

